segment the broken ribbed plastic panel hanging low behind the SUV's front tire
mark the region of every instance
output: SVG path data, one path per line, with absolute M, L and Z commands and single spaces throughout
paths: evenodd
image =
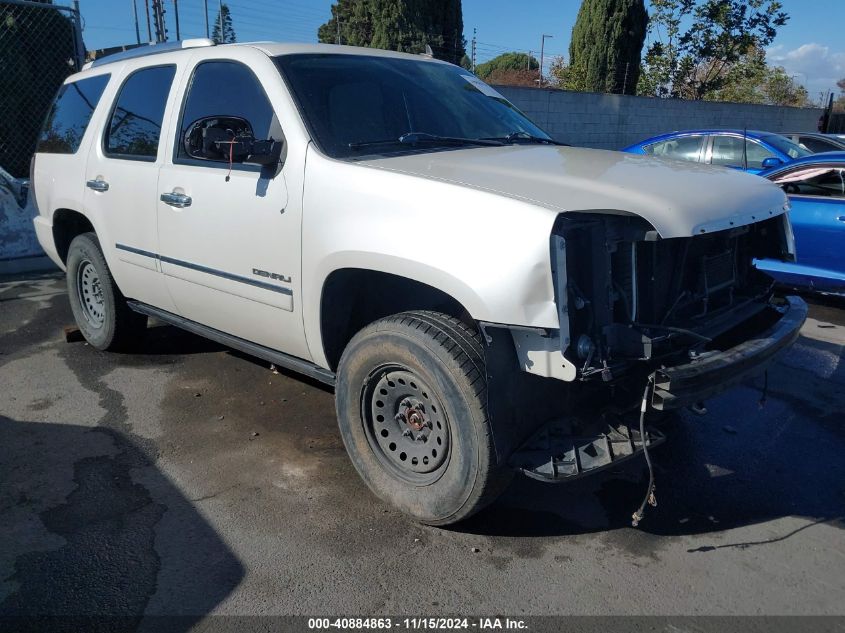
M 600 433 L 578 433 L 578 421 L 556 420 L 541 427 L 510 458 L 510 465 L 540 481 L 561 482 L 590 475 L 643 452 L 639 427 L 620 417 L 605 416 Z M 654 428 L 646 428 L 648 448 L 663 443 L 666 437 Z

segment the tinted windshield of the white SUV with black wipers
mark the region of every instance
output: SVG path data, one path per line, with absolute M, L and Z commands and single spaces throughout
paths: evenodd
M 314 141 L 334 158 L 480 146 L 470 139 L 550 140 L 502 95 L 450 64 L 335 54 L 283 55 L 276 63 Z

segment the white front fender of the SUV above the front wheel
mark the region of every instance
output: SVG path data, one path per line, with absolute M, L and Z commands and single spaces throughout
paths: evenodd
M 321 289 L 355 268 L 441 290 L 473 319 L 559 326 L 549 238 L 557 214 L 527 202 L 309 151 L 302 227 L 303 319 L 325 362 Z

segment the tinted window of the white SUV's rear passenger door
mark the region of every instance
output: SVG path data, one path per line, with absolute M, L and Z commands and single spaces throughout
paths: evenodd
M 155 160 L 175 66 L 132 73 L 120 88 L 106 129 L 104 151 L 114 158 Z

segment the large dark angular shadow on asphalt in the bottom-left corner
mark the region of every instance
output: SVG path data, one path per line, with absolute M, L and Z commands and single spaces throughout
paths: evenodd
M 0 417 L 0 481 L 0 629 L 135 630 L 161 603 L 185 617 L 153 628 L 188 630 L 243 578 L 194 504 L 113 430 Z

